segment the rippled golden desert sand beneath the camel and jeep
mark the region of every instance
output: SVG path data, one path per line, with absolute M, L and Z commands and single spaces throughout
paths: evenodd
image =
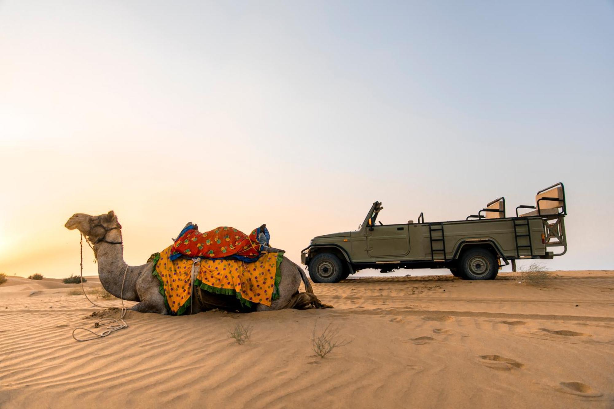
M 72 329 L 101 310 L 72 287 L 0 286 L 0 407 L 614 405 L 614 271 L 553 272 L 538 286 L 505 275 L 314 284 L 334 309 L 129 312 L 128 329 L 85 343 Z M 244 345 L 228 338 L 238 323 L 253 325 Z M 310 338 L 328 324 L 351 342 L 321 359 Z

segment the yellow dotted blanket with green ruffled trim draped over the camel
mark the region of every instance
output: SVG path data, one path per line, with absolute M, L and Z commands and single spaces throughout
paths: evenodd
M 171 314 L 181 315 L 192 304 L 190 275 L 193 264 L 198 268 L 194 287 L 216 294 L 235 295 L 247 308 L 251 308 L 252 303 L 270 306 L 279 298 L 279 265 L 284 259 L 283 253 L 263 253 L 251 263 L 210 259 L 193 262 L 183 258 L 171 261 L 171 254 L 173 246 L 152 254 L 148 260 L 153 260 L 152 274 L 160 280 L 160 294 L 165 297 L 166 308 Z

